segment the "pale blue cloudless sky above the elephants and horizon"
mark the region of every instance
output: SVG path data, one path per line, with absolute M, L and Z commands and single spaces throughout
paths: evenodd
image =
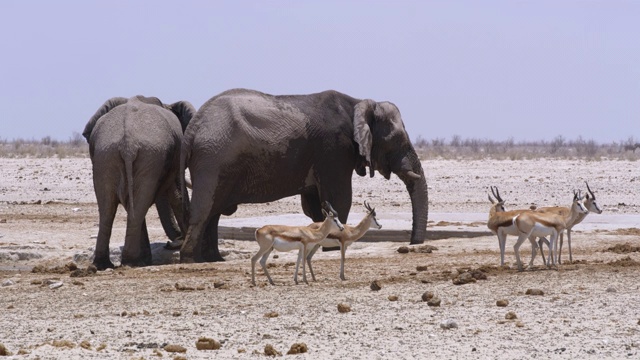
M 640 138 L 640 1 L 0 1 L 0 139 L 108 98 L 335 89 L 415 140 Z

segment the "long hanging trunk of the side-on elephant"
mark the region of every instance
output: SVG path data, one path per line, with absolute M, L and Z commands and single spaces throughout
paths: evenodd
M 395 173 L 404 182 L 411 197 L 411 210 L 413 213 L 411 244 L 422 244 L 427 234 L 429 195 L 427 180 L 415 151 L 410 151 L 403 158 L 401 168 Z

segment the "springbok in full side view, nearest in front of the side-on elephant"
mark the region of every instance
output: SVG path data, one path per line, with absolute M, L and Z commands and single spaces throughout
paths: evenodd
M 267 270 L 267 258 L 273 249 L 281 252 L 298 250 L 298 261 L 296 262 L 296 271 L 293 281 L 298 284 L 298 267 L 302 260 L 302 280 L 307 282 L 305 268 L 305 254 L 307 246 L 314 246 L 324 240 L 332 231 L 342 231 L 344 226 L 338 219 L 338 213 L 331 207 L 328 202 L 323 203 L 324 209 L 322 213 L 325 216 L 324 221 L 318 228 L 310 226 L 287 226 L 287 225 L 265 225 L 256 230 L 256 241 L 260 245 L 258 252 L 251 258 L 251 283 L 256 284 L 256 261 L 260 257 L 260 265 L 264 270 L 264 274 L 269 279 L 269 283 L 274 285 L 269 271 Z M 326 210 L 326 211 L 325 211 Z

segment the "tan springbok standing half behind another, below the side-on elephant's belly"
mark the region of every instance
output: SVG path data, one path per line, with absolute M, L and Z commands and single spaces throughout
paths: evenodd
M 364 202 L 364 207 L 365 209 L 367 209 L 367 214 L 364 216 L 364 218 L 362 218 L 358 225 L 344 225 L 344 231 L 332 231 L 324 240 L 314 245 L 311 249 L 308 249 L 307 263 L 309 264 L 309 271 L 311 272 L 311 278 L 313 279 L 313 281 L 316 281 L 316 275 L 313 273 L 311 258 L 316 253 L 316 251 L 318 251 L 318 248 L 320 248 L 320 246 L 340 246 L 340 279 L 345 280 L 344 258 L 347 247 L 362 238 L 369 229 L 382 228 L 382 225 L 380 225 L 380 223 L 378 223 L 378 220 L 376 219 L 376 209 L 371 208 L 371 206 L 366 201 Z M 319 228 L 321 225 L 322 223 L 313 223 L 309 225 L 309 227 Z

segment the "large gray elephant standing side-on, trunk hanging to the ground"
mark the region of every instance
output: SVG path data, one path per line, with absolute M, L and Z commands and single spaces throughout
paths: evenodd
M 427 183 L 390 102 L 354 99 L 336 91 L 272 96 L 234 89 L 207 101 L 193 117 L 182 142 L 181 176 L 191 173 L 189 227 L 182 262 L 222 261 L 220 215 L 238 204 L 264 203 L 296 194 L 313 221 L 322 221 L 323 201 L 347 222 L 351 177 L 377 170 L 396 174 L 411 197 L 411 244 L 424 241 Z M 186 189 L 183 187 L 183 191 Z

